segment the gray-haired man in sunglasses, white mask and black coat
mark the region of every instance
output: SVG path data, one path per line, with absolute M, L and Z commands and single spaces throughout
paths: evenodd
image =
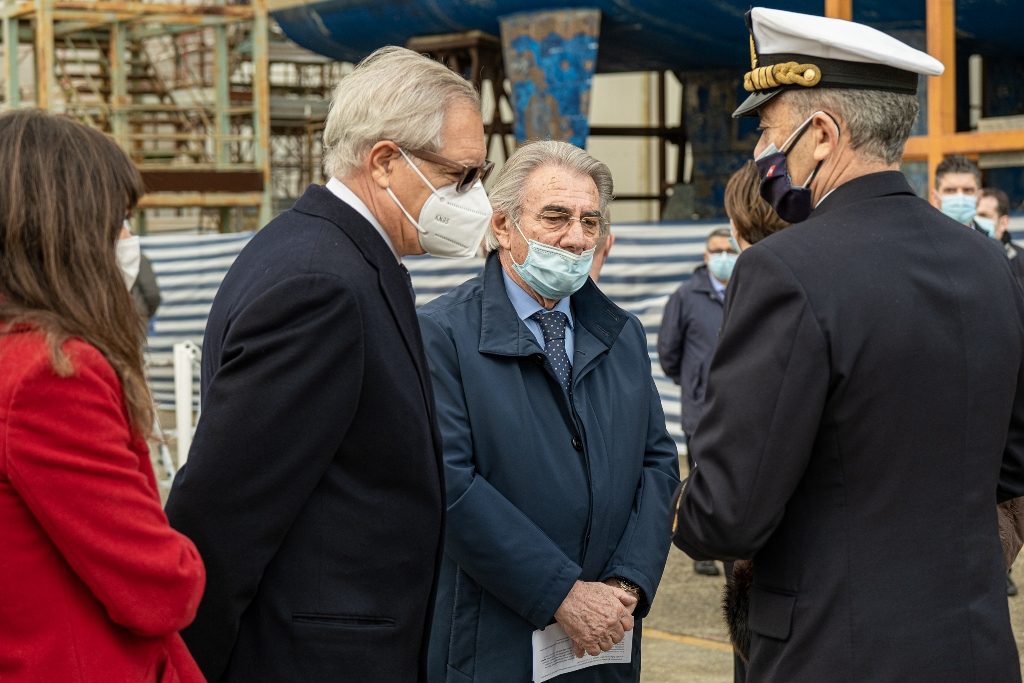
M 377 50 L 339 83 L 327 186 L 256 233 L 214 299 L 203 413 L 167 509 L 209 558 L 184 634 L 211 681 L 417 681 L 444 519 L 408 254 L 490 218 L 479 97 Z

